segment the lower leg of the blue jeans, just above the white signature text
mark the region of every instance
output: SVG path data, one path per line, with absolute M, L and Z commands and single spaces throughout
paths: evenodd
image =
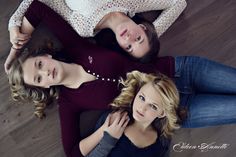
M 197 94 L 189 100 L 182 127 L 196 128 L 236 123 L 236 95 Z

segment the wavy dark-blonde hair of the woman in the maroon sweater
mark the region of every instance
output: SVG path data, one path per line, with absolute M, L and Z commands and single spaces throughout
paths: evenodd
M 40 54 L 43 55 L 43 54 Z M 15 101 L 24 101 L 34 103 L 34 114 L 38 118 L 45 116 L 44 110 L 47 104 L 53 99 L 58 98 L 58 88 L 51 87 L 49 89 L 35 87 L 24 83 L 22 64 L 30 57 L 38 55 L 30 53 L 27 49 L 22 54 L 13 60 L 8 74 L 8 81 L 11 89 L 11 96 Z

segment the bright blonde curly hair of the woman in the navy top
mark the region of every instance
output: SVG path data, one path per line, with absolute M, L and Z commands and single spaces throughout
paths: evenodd
M 127 79 L 121 81 L 122 91 L 111 104 L 114 108 L 131 108 L 133 100 L 140 88 L 152 82 L 153 87 L 159 92 L 166 113 L 164 118 L 157 118 L 152 126 L 165 137 L 171 137 L 173 131 L 179 128 L 177 124 L 177 108 L 179 93 L 174 82 L 163 74 L 146 74 L 139 71 L 127 73 Z

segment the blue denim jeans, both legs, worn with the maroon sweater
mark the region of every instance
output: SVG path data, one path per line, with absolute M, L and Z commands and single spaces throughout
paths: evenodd
M 188 117 L 182 127 L 236 123 L 236 68 L 201 57 L 175 58 L 175 83 Z

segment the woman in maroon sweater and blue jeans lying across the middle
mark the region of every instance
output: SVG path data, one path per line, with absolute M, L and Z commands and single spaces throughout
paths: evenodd
M 84 41 L 60 16 L 38 1 L 31 4 L 25 17 L 24 22 L 29 23 L 22 25 L 22 32 L 27 29 L 32 32 L 40 22 L 45 23 L 61 41 L 71 62 L 76 63 L 59 62 L 50 56 L 25 60 L 19 58 L 15 60 L 9 75 L 13 96 L 17 99 L 45 101 L 49 95 L 44 95 L 42 99 L 34 99 L 34 96 L 43 95 L 42 92 L 49 90 L 54 94 L 54 86 L 64 85 L 60 87 L 58 103 L 62 142 L 67 156 L 81 155 L 78 146 L 80 113 L 106 108 L 119 93 L 119 77 L 124 77 L 132 70 L 146 73 L 160 71 L 175 79 L 181 92 L 181 105 L 186 105 L 190 113 L 182 126 L 200 127 L 236 122 L 234 68 L 199 57 L 162 57 L 148 64 L 130 61 Z

